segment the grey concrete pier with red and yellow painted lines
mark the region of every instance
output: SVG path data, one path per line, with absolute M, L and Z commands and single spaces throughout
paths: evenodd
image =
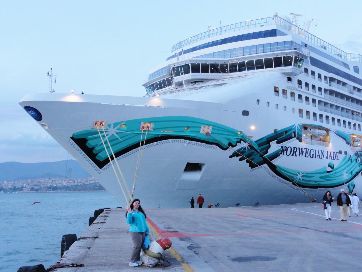
M 101 214 L 59 260 L 84 267 L 54 271 L 361 271 L 362 215 L 341 222 L 333 203 L 146 210 L 154 238 L 168 237 L 169 267 L 130 267 L 125 211 Z M 103 215 L 103 216 L 102 216 Z M 105 217 L 104 215 L 108 215 Z M 105 224 L 98 222 L 106 222 Z M 97 237 L 99 238 L 93 238 Z M 86 238 L 89 237 L 89 238 Z

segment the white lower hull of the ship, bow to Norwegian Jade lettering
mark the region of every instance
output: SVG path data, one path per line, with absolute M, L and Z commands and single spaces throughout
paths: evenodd
M 265 80 L 265 77 L 269 79 Z M 301 139 L 302 125 L 306 123 L 305 121 L 286 115 L 283 111 L 257 105 L 255 102 L 259 96 L 257 94 L 271 90 L 275 82 L 281 81 L 280 77 L 276 73 L 255 75 L 249 77 L 248 81 L 240 79 L 228 86 L 193 91 L 192 94 L 190 92 L 184 95 L 185 99 L 189 100 L 172 99 L 176 94 L 162 99 L 34 94 L 25 96 L 20 105 L 38 110 L 42 119 L 37 122 L 43 124 L 43 127 L 46 125 L 49 134 L 122 205 L 126 205 L 126 200 L 109 158 L 100 161 L 94 156 L 89 156 L 92 149 L 85 148 L 80 143 L 80 138 L 78 140 L 75 138 L 77 133 L 93 131 L 95 135 L 93 140 L 98 140 L 98 148 L 104 151 L 98 133 L 101 133 L 106 144 L 104 133 L 109 136 L 109 129 L 115 128 L 117 124 L 127 125 L 123 131 L 118 128 L 117 135 L 120 139 L 109 136 L 109 139 L 114 140 L 111 142 L 112 150 L 109 149 L 109 154 L 111 156 L 111 151 L 116 154 L 117 162 L 130 190 L 135 178 L 137 161 L 140 161 L 134 196 L 142 199 L 143 205 L 148 208 L 188 207 L 191 196 L 197 198 L 198 194 L 202 194 L 205 198 L 205 205 L 212 203 L 219 207 L 229 207 L 311 201 L 305 194 L 321 200 L 328 189 L 335 196 L 341 188 L 353 190 L 357 194 L 362 193 L 361 158 L 355 156 L 355 152 L 346 144 L 346 140 L 338 136 L 333 128 L 329 129 L 331 140 L 329 146 L 309 144 L 308 140 Z M 256 82 L 258 88 L 255 88 Z M 280 83 L 279 86 L 282 87 Z M 197 101 L 198 96 L 206 91 L 210 100 L 219 103 Z M 220 92 L 224 94 L 222 98 L 218 95 Z M 277 98 L 270 96 L 268 99 L 273 105 L 271 99 Z M 249 111 L 249 116 L 242 114 L 243 109 Z M 142 133 L 140 128 L 138 131 L 128 130 L 132 120 L 137 120 L 135 122 L 139 126 L 142 122 L 154 123 L 153 131 L 148 131 L 150 134 L 146 139 L 142 156 L 139 156 L 139 150 L 142 150 L 139 149 L 139 145 L 140 143 L 143 145 L 146 131 L 143 132 L 140 141 Z M 157 130 L 157 126 L 165 120 L 168 122 L 168 127 L 163 127 L 162 132 Z M 105 131 L 99 129 L 98 132 L 98 129 L 92 128 L 94 121 L 105 121 Z M 308 124 L 313 123 L 316 122 L 312 120 L 308 122 Z M 221 124 L 222 128 L 229 130 L 230 137 L 234 141 L 230 144 L 235 144 L 235 147 L 227 148 L 220 144 L 224 139 L 220 138 L 216 124 Z M 180 125 L 183 125 L 182 132 L 178 131 Z M 189 136 L 188 132 L 183 131 L 188 125 L 192 129 L 199 130 L 192 131 L 195 136 Z M 210 135 L 200 132 L 202 125 L 214 125 Z M 252 125 L 255 127 L 253 130 L 250 128 Z M 251 164 L 246 160 L 239 160 L 245 158 L 241 156 L 243 149 L 246 151 L 253 149 L 251 144 L 245 144 L 245 141 L 252 140 L 256 143 L 258 139 L 273 135 L 275 129 L 285 129 L 287 133 L 292 133 L 292 136 L 290 139 L 281 140 L 280 143 L 277 139 L 269 142 L 270 148 L 265 156 L 277 152 L 276 157 L 270 157 L 270 165 L 266 163 L 267 158 L 262 162 L 260 154 L 254 156 Z M 238 134 L 238 131 L 242 132 Z M 136 135 L 137 139 L 132 145 L 125 144 L 122 138 L 127 133 Z M 152 140 L 151 135 L 155 137 Z M 253 138 L 241 139 L 242 135 Z M 196 139 L 197 137 L 201 138 Z M 118 147 L 118 145 L 124 146 Z M 293 148 L 299 150 L 293 154 L 292 151 L 295 151 Z M 285 151 L 284 154 L 281 149 Z M 310 151 L 311 149 L 315 151 Z M 235 153 L 237 150 L 239 151 Z M 233 153 L 237 157 L 230 157 Z M 308 156 L 305 153 L 308 153 Z M 246 153 L 243 154 L 247 156 Z M 349 157 L 351 163 L 342 166 L 340 164 L 345 156 Z M 260 166 L 251 167 L 257 158 L 261 159 L 258 163 Z M 356 161 L 353 165 L 352 160 Z M 202 169 L 185 171 L 188 162 L 201 164 Z M 328 168 L 329 162 L 333 164 L 333 169 Z M 112 164 L 119 176 L 114 160 Z M 278 172 L 272 165 L 280 166 L 283 170 L 279 169 Z M 317 173 L 318 169 L 324 168 L 325 170 L 322 170 L 324 173 Z M 295 170 L 295 176 L 293 173 L 286 175 L 285 169 Z

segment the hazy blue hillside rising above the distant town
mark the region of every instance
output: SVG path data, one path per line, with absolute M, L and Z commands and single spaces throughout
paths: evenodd
M 67 169 L 66 169 L 67 167 Z M 28 180 L 29 178 L 88 178 L 90 174 L 75 160 L 55 162 L 0 162 L 0 181 Z

